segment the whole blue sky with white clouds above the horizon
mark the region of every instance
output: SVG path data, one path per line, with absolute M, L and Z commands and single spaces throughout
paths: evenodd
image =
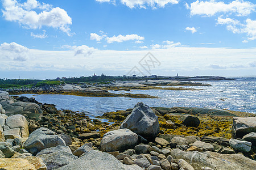
M 256 2 L 0 0 L 0 78 L 256 73 Z

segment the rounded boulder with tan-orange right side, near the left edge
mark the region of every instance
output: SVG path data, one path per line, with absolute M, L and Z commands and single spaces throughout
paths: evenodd
M 11 129 L 18 129 L 20 131 L 20 137 L 28 138 L 29 131 L 28 131 L 28 123 L 24 116 L 21 114 L 15 114 L 13 116 L 9 116 L 6 119 L 6 126 L 9 126 Z M 19 135 L 19 134 L 17 134 Z

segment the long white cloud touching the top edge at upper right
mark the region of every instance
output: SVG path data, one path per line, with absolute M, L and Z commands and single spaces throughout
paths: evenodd
M 217 2 L 216 0 L 211 1 L 199 1 L 191 3 L 190 7 L 186 4 L 190 10 L 191 15 L 203 15 L 213 16 L 217 13 L 234 13 L 237 16 L 246 16 L 255 11 L 256 5 L 251 2 L 236 0 L 230 3 L 224 3 L 222 1 Z

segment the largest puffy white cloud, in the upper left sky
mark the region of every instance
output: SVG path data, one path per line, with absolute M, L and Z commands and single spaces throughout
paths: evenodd
M 40 13 L 37 13 L 40 11 Z M 69 25 L 72 19 L 67 11 L 51 5 L 39 3 L 36 0 L 27 0 L 20 3 L 16 0 L 3 0 L 3 17 L 11 22 L 18 22 L 28 29 L 40 29 L 43 26 L 59 28 L 61 31 L 72 36 Z

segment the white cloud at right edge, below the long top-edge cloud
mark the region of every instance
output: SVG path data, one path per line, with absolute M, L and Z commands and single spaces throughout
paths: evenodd
M 247 40 L 255 40 L 256 39 L 256 20 L 246 19 L 245 23 L 241 23 L 236 19 L 231 18 L 218 18 L 217 24 L 226 25 L 226 29 L 228 31 L 232 31 L 233 33 L 246 33 Z M 243 42 L 247 42 L 243 40 Z

